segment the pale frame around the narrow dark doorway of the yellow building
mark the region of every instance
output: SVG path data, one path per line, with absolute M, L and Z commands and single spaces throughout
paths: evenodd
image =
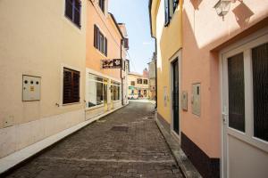
M 172 55 L 172 58 L 170 58 L 169 60 L 169 78 L 170 78 L 170 93 L 172 96 L 172 90 L 173 90 L 173 66 L 172 63 L 174 61 L 178 60 L 178 69 L 179 69 L 179 134 L 177 134 L 174 130 L 173 130 L 173 107 L 172 107 L 172 103 L 173 103 L 173 97 L 171 97 L 170 99 L 170 117 L 171 117 L 171 134 L 174 136 L 174 138 L 176 138 L 178 140 L 178 142 L 180 142 L 180 136 L 181 136 L 181 113 L 180 113 L 180 93 L 181 93 L 181 49 L 174 53 Z

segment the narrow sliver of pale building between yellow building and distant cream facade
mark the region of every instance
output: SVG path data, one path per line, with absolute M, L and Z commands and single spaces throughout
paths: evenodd
M 149 69 L 149 99 L 155 100 L 156 96 L 156 53 L 154 53 L 152 61 L 148 63 L 148 69 Z

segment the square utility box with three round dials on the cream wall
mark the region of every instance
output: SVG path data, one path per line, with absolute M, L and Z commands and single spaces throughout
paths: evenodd
M 40 101 L 41 77 L 22 76 L 22 101 Z

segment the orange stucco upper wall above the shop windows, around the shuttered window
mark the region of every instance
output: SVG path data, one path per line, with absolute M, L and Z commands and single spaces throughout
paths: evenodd
M 94 5 L 93 5 L 94 4 Z M 107 2 L 108 4 L 108 2 Z M 101 69 L 101 60 L 121 58 L 121 35 L 109 13 L 104 13 L 97 2 L 88 3 L 86 67 L 110 77 L 120 79 L 120 69 Z M 94 24 L 108 40 L 108 56 L 94 47 Z

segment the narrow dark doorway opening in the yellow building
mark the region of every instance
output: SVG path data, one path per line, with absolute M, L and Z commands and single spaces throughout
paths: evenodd
M 179 62 L 172 62 L 172 130 L 180 134 L 180 106 L 179 106 Z

